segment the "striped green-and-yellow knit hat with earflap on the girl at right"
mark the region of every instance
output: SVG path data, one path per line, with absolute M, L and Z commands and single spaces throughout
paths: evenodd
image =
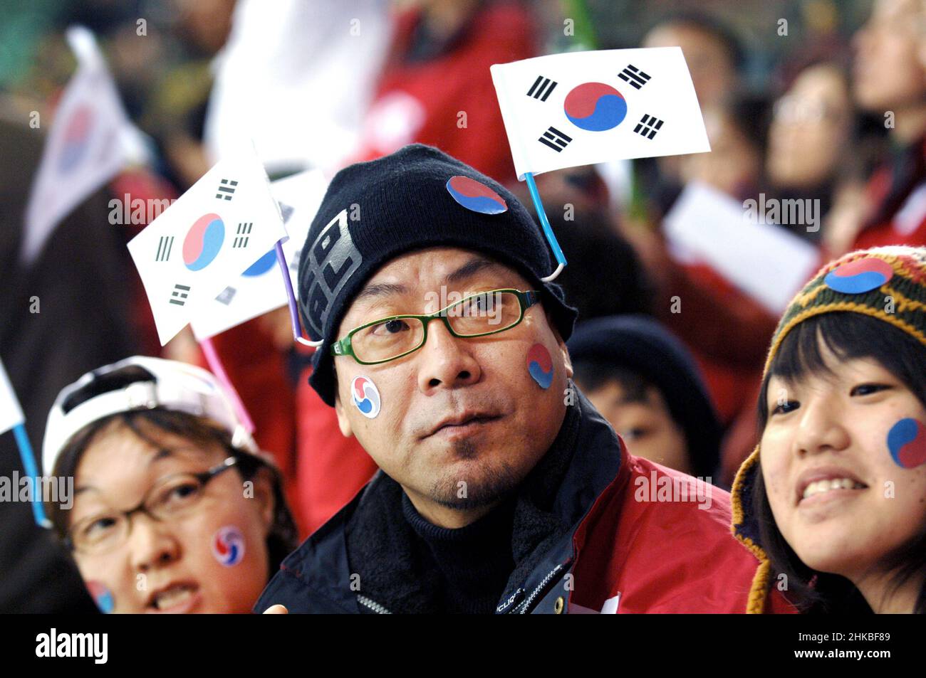
M 870 315 L 899 327 L 926 346 L 926 248 L 877 247 L 849 253 L 823 266 L 800 290 L 771 339 L 763 379 L 788 333 L 815 315 L 849 312 Z M 747 612 L 762 612 L 770 586 L 770 562 L 759 544 L 753 506 L 759 446 L 743 462 L 732 487 L 732 533 L 760 564 L 749 592 Z

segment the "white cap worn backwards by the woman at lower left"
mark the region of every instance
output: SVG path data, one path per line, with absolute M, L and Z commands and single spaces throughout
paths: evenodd
M 64 412 L 62 405 L 71 394 L 86 388 L 101 376 L 129 366 L 144 368 L 154 379 L 136 381 L 124 388 L 106 391 L 81 402 L 68 413 Z M 84 426 L 111 414 L 150 410 L 155 407 L 211 419 L 232 434 L 234 447 L 253 454 L 258 453 L 254 438 L 238 418 L 231 399 L 222 390 L 215 376 L 194 365 L 135 356 L 88 372 L 58 394 L 45 425 L 42 444 L 44 474 L 52 473 L 61 450 Z

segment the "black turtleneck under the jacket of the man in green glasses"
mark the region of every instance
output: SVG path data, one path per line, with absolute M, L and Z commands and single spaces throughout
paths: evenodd
M 514 498 L 506 499 L 474 523 L 450 529 L 429 523 L 402 493 L 402 512 L 418 536 L 420 556 L 441 574 L 436 593 L 445 612 L 494 612 L 515 566 L 514 510 Z

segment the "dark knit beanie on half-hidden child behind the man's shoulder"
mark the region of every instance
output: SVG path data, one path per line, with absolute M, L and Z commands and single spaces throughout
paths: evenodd
M 694 475 L 716 475 L 720 421 L 697 365 L 679 339 L 644 315 L 616 315 L 580 323 L 568 348 L 573 363 L 613 365 L 658 388 L 682 428 Z

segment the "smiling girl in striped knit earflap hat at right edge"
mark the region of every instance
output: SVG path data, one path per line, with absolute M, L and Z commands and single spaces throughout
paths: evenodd
M 811 612 L 926 610 L 926 248 L 824 266 L 771 342 L 732 531 Z

